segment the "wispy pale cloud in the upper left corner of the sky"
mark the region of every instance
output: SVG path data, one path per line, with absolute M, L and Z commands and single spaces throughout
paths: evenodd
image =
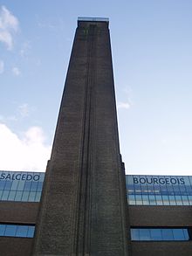
M 13 33 L 18 31 L 17 17 L 10 13 L 5 6 L 0 9 L 0 41 L 8 50 L 13 47 Z

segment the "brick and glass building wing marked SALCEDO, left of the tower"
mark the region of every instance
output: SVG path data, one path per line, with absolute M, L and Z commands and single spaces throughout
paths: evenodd
M 0 171 L 0 255 L 31 255 L 45 173 Z

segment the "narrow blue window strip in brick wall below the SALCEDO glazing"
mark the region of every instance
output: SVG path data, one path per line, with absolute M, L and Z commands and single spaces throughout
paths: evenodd
M 0 224 L 0 237 L 33 238 L 35 225 Z

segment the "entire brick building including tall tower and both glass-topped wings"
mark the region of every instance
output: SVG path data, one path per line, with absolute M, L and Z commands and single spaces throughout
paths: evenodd
M 3 256 L 190 256 L 190 176 L 125 176 L 106 18 L 79 18 L 45 174 L 0 171 Z

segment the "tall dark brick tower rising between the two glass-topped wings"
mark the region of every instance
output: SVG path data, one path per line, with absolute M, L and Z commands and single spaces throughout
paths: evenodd
M 79 18 L 31 255 L 128 255 L 125 191 L 108 20 Z

